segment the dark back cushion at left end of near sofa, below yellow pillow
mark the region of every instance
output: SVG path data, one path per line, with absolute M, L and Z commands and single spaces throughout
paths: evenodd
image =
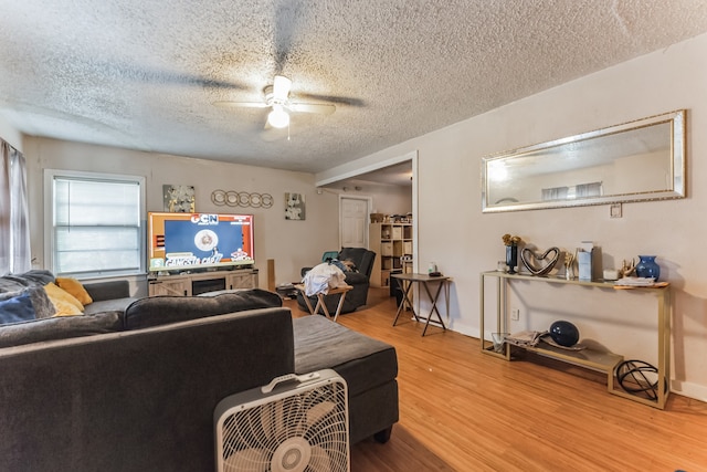
M 0 348 L 123 329 L 123 312 L 59 316 L 0 326 Z

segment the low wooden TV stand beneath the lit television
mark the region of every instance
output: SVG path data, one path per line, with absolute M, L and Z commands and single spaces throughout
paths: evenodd
M 257 289 L 257 269 L 155 275 L 148 280 L 149 296 L 192 296 L 218 290 Z

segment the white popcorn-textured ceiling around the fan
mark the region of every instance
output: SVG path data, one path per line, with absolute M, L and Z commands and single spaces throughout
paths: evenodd
M 707 32 L 704 0 L 0 0 L 21 132 L 317 172 Z M 296 102 L 264 129 L 273 75 Z

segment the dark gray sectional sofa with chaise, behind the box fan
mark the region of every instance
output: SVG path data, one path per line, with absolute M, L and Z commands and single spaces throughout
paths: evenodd
M 276 294 L 85 287 L 92 313 L 0 326 L 0 470 L 211 471 L 221 399 L 321 368 L 347 380 L 351 443 L 398 421 L 394 348 Z

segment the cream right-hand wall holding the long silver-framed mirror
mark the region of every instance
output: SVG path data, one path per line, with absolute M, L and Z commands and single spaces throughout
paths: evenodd
M 384 149 L 317 176 L 331 178 L 411 151 L 419 153 L 419 261 L 435 261 L 454 277 L 450 325 L 478 336 L 479 272 L 504 259 L 500 237 L 519 234 L 538 248 L 576 248 L 592 240 L 615 264 L 656 254 L 674 293 L 672 388 L 707 400 L 707 35 L 672 45 L 520 99 L 435 133 Z M 482 157 L 678 108 L 687 114 L 687 193 L 682 200 L 625 203 L 623 218 L 609 207 L 482 213 Z M 571 290 L 572 287 L 566 286 Z M 587 307 L 572 318 L 584 337 L 619 354 L 655 358 L 655 306 L 635 296 L 592 292 L 582 298 L 535 283 L 523 295 L 521 322 L 546 329 L 568 306 Z M 547 304 L 548 306 L 542 306 Z M 593 311 L 601 310 L 599 317 Z M 544 313 L 537 321 L 524 313 Z M 549 314 L 549 315 L 548 315 Z M 536 322 L 534 324 L 534 321 Z

